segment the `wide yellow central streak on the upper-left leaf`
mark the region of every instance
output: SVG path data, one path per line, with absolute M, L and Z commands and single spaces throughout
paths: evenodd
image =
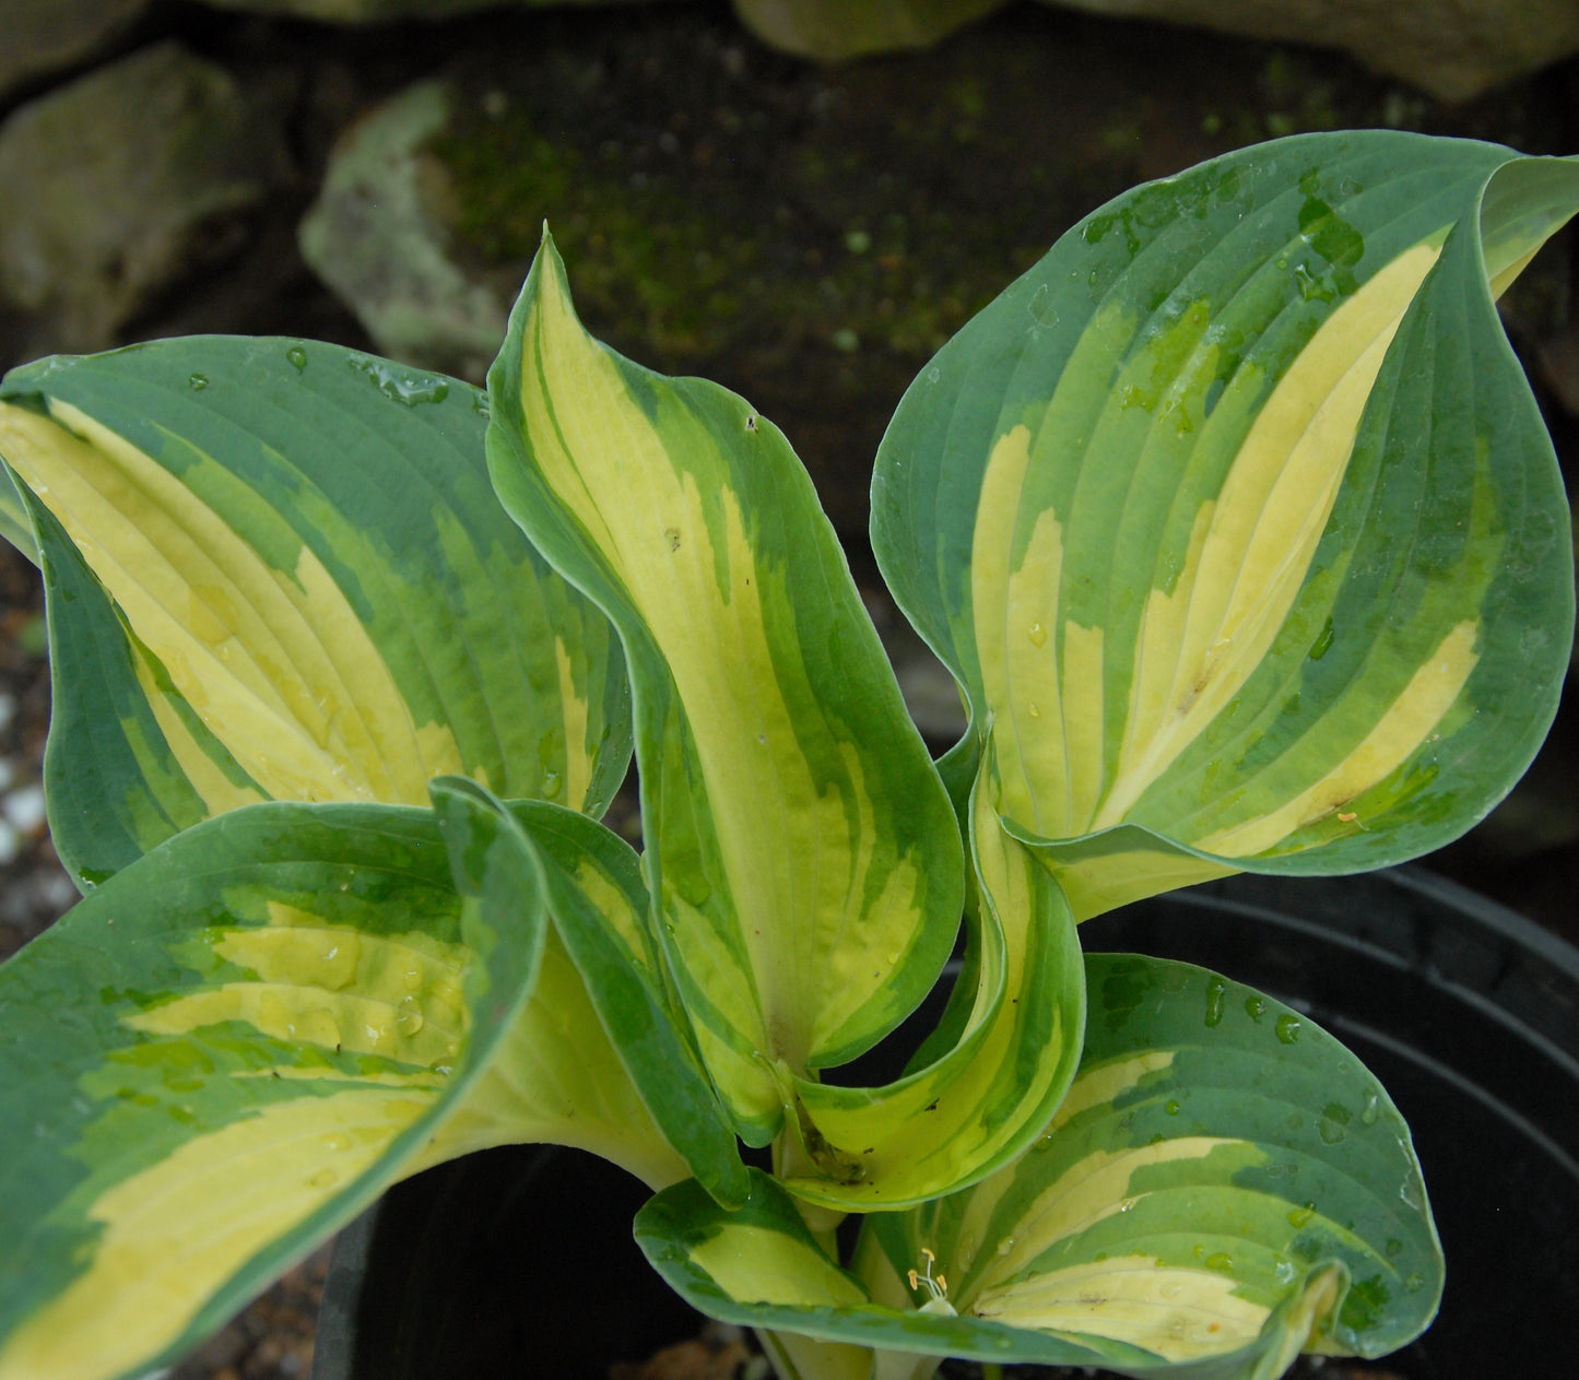
M 426 799 L 461 769 L 418 728 L 322 561 L 278 570 L 180 477 L 68 403 L 5 406 L 0 453 L 62 523 L 144 644 L 275 799 Z

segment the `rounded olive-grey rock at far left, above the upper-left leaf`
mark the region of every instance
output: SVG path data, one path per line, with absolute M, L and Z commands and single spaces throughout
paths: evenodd
M 289 171 L 223 68 L 161 43 L 0 126 L 0 295 L 38 349 L 95 351 L 159 294 L 245 240 Z

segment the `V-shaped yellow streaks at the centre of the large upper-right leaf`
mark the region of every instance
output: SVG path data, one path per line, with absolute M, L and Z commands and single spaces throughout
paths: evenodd
M 1048 838 L 1123 823 L 1143 789 L 1243 688 L 1304 584 L 1360 414 L 1437 253 L 1429 245 L 1407 251 L 1345 300 L 1262 404 L 1219 494 L 1195 513 L 1172 587 L 1146 597 L 1113 774 L 1105 767 L 1104 632 L 1060 619 L 1063 524 L 1052 508 L 1041 512 L 1014 568 L 1009 553 L 995 549 L 992 534 L 1015 527 L 1025 499 L 1031 433 L 1017 426 L 998 441 L 976 512 L 981 559 L 973 564 L 973 592 L 984 693 L 1003 763 L 1000 808 L 1009 818 Z M 1058 407 L 1055 392 L 1050 411 Z M 1037 633 L 1048 627 L 1053 635 Z M 1467 674 L 1454 660 L 1446 703 Z M 1399 758 L 1440 718 L 1440 695 L 1432 704 L 1437 712 Z M 1323 802 L 1314 813 L 1330 808 Z

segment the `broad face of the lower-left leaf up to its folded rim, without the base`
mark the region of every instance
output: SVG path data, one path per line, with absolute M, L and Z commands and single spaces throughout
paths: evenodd
M 0 1377 L 169 1363 L 420 1164 L 537 973 L 508 883 L 463 903 L 431 812 L 270 802 L 0 968 Z

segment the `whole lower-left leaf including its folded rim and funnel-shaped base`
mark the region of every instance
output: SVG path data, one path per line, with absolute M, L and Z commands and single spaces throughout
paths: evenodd
M 475 791 L 207 821 L 0 968 L 0 1380 L 141 1375 L 388 1183 L 486 1145 L 744 1197 L 624 947 L 628 849 Z

